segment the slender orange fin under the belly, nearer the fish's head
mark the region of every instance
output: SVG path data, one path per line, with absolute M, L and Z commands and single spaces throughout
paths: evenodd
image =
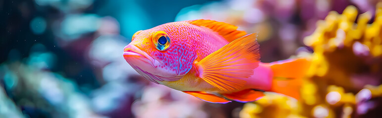
M 214 94 L 209 94 L 203 91 L 183 91 L 183 92 L 191 94 L 192 96 L 195 96 L 196 98 L 199 98 L 206 102 L 223 103 L 223 104 L 231 102 L 229 100 L 224 99 L 223 97 L 219 97 Z

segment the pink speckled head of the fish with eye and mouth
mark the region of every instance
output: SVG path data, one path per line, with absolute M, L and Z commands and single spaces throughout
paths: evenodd
M 124 48 L 124 59 L 151 82 L 177 81 L 192 68 L 196 52 L 186 23 L 167 23 L 137 31 Z

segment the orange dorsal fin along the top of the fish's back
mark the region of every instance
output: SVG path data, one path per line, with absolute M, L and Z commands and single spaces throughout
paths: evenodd
M 191 20 L 186 22 L 192 25 L 212 29 L 213 31 L 218 32 L 219 35 L 223 36 L 228 42 L 232 42 L 233 40 L 246 34 L 245 31 L 237 30 L 238 29 L 237 26 L 234 26 L 228 23 L 217 22 L 212 20 L 203 20 L 203 19 Z

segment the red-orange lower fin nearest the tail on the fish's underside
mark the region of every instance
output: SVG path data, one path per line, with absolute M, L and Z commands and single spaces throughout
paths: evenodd
M 222 95 L 226 97 L 227 99 L 245 103 L 245 102 L 253 102 L 253 101 L 259 100 L 261 97 L 264 96 L 264 92 L 252 90 L 252 89 L 245 89 L 239 92 L 234 92 L 230 94 L 222 94 Z

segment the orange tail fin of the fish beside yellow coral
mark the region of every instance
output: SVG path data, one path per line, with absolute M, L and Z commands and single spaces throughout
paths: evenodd
M 271 62 L 273 71 L 272 89 L 293 98 L 300 98 L 302 78 L 310 66 L 308 59 L 286 59 Z

